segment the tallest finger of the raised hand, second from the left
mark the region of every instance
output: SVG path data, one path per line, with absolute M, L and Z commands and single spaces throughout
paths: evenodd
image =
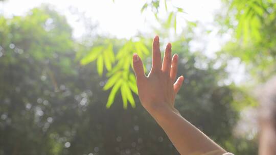
M 152 71 L 161 70 L 161 53 L 159 48 L 159 37 L 155 36 L 152 44 Z

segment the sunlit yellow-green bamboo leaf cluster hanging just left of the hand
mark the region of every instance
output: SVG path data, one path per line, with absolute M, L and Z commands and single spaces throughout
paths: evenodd
M 123 46 L 118 51 L 113 51 L 112 40 L 105 39 L 100 45 L 93 46 L 80 60 L 82 65 L 97 60 L 97 69 L 100 76 L 102 76 L 105 66 L 107 70 L 106 75 L 109 79 L 103 89 L 108 90 L 112 87 L 106 104 L 107 108 L 110 108 L 113 104 L 119 89 L 121 90 L 124 109 L 127 108 L 128 101 L 131 107 L 135 107 L 135 101 L 131 92 L 135 94 L 138 92 L 135 75 L 131 72 L 130 68 L 132 67 L 132 55 L 137 53 L 141 59 L 144 59 L 150 53 L 143 40 L 132 41 L 130 39 L 128 41 L 122 41 L 122 43 Z M 116 65 L 112 66 L 114 63 Z

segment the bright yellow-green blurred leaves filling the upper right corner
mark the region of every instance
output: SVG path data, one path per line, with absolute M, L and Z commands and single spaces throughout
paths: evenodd
M 233 38 L 222 49 L 223 55 L 238 57 L 257 82 L 275 74 L 276 2 L 273 0 L 224 0 L 220 13 L 221 31 L 233 31 Z M 227 58 L 229 59 L 229 58 Z

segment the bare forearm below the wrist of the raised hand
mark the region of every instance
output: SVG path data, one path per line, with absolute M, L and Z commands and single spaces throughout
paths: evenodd
M 163 128 L 180 154 L 221 155 L 226 152 L 177 111 L 158 109 L 149 113 Z

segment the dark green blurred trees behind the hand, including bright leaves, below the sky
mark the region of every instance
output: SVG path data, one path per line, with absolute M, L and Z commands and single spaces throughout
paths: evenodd
M 232 135 L 239 115 L 230 103 L 239 90 L 219 85 L 225 64 L 214 69 L 215 60 L 190 52 L 191 29 L 172 42 L 178 74 L 186 78 L 177 109 L 225 149 L 256 154 L 254 139 Z M 72 38 L 65 17 L 45 6 L 1 17 L 0 35 L 0 154 L 178 154 L 134 105 L 131 58 L 139 53 L 149 69 L 150 38 L 95 36 L 93 46 L 85 46 Z M 127 100 L 136 108 L 124 110 L 120 103 L 126 108 Z

